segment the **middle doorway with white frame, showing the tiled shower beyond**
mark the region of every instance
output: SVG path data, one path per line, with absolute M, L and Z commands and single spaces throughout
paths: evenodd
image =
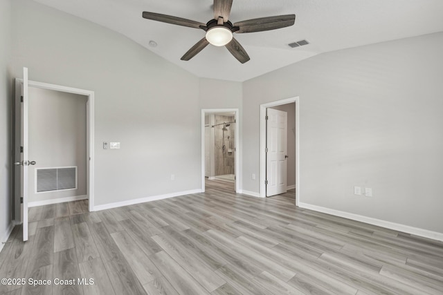
M 206 180 L 239 189 L 238 109 L 201 110 L 201 191 Z

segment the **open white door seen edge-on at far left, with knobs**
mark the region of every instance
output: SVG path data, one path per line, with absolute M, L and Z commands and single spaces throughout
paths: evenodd
M 28 68 L 23 68 L 23 81 L 17 81 L 16 84 L 16 116 L 17 124 L 16 143 L 20 143 L 19 153 L 16 153 L 17 171 L 15 182 L 16 198 L 20 198 L 21 203 L 21 221 L 23 222 L 23 240 L 28 240 L 28 165 L 34 165 L 35 162 L 28 160 Z M 18 131 L 18 132 L 17 132 Z

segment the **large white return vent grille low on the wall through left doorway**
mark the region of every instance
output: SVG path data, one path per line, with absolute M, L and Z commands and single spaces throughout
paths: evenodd
M 77 166 L 35 169 L 37 193 L 77 189 Z

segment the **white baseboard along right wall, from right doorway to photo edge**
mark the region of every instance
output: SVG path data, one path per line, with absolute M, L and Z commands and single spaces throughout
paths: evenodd
M 371 218 L 367 216 L 362 216 L 359 214 L 349 213 L 345 211 L 339 211 L 335 209 L 329 209 L 325 207 L 316 206 L 313 204 L 307 204 L 307 203 L 298 203 L 298 207 L 310 209 L 313 211 L 318 211 L 322 213 L 331 214 L 338 217 L 343 217 L 351 220 L 356 220 L 360 222 L 365 222 L 370 225 L 377 225 L 379 227 L 385 227 L 387 229 L 393 229 L 395 231 L 402 231 L 406 234 L 413 234 L 415 236 L 421 236 L 424 238 L 431 238 L 433 240 L 441 240 L 443 241 L 443 233 L 439 233 L 437 231 L 428 231 L 427 229 L 419 229 L 418 227 L 410 227 L 409 225 L 401 225 L 399 223 L 390 222 L 386 220 L 381 220 L 377 218 Z

